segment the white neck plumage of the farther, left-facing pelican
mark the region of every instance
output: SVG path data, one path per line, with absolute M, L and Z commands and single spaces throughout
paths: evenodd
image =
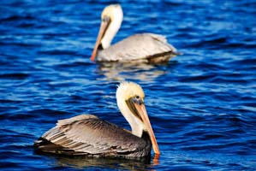
M 110 44 L 113 40 L 113 38 L 116 36 L 116 32 L 118 32 L 119 28 L 121 27 L 122 24 L 122 9 L 121 8 L 116 8 L 114 12 L 114 17 L 110 21 L 110 26 L 104 33 L 104 37 L 101 40 L 101 44 L 103 49 L 106 49 L 110 47 Z

